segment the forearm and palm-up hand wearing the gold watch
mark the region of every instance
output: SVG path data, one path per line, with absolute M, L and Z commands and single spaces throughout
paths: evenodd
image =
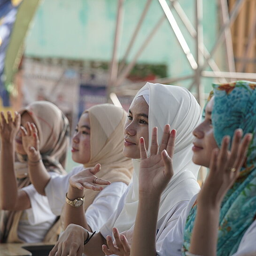
M 86 200 L 86 189 L 92 190 L 102 190 L 103 187 L 99 185 L 109 185 L 110 182 L 101 178 L 97 178 L 95 174 L 101 171 L 101 165 L 96 164 L 94 168 L 87 168 L 83 171 L 80 171 L 78 174 L 70 177 L 70 186 L 68 190 L 68 198 L 74 200 L 78 197 L 84 196 L 85 190 L 85 200 Z M 92 232 L 90 226 L 87 224 L 85 218 L 84 206 L 73 207 L 68 203 L 65 203 L 64 210 L 64 227 L 66 228 L 69 224 L 77 224 L 89 232 Z

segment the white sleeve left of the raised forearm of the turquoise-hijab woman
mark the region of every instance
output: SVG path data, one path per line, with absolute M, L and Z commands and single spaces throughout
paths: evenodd
M 186 208 L 179 214 L 176 224 L 169 230 L 162 241 L 161 247 L 157 250 L 158 256 L 182 256 L 181 248 L 183 243 L 183 230 L 187 216 L 192 208 L 197 195 L 194 195 Z

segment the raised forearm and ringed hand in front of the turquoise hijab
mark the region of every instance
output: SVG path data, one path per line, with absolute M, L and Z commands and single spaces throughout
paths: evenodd
M 197 199 L 198 210 L 190 246 L 190 252 L 193 254 L 217 255 L 220 205 L 225 194 L 239 176 L 252 139 L 251 134 L 246 134 L 243 140 L 241 137 L 242 131 L 236 130 L 231 151 L 228 150 L 230 139 L 226 136 L 220 150 L 216 149 L 212 153 L 209 176 Z M 231 171 L 231 168 L 235 168 L 235 171 Z

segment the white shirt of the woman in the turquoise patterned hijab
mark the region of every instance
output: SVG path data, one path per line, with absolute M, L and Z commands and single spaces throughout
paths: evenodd
M 181 212 L 176 225 L 169 228 L 169 233 L 166 235 L 163 240 L 161 248 L 157 249 L 158 256 L 182 256 L 181 248 L 183 243 L 183 231 L 186 224 L 187 216 L 192 208 L 197 195 L 195 195 L 187 207 Z M 246 233 L 243 235 L 242 240 L 240 241 L 239 248 L 233 256 L 245 256 L 256 255 L 256 220 L 249 226 Z

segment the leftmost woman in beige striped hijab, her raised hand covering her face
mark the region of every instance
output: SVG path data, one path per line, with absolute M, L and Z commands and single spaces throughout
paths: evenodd
M 39 131 L 37 159 L 31 158 L 24 150 L 19 129 L 27 122 L 33 122 Z M 51 212 L 47 198 L 38 194 L 31 185 L 28 173 L 44 169 L 50 176 L 63 174 L 68 133 L 67 118 L 47 101 L 31 103 L 16 112 L 14 120 L 8 112 L 8 123 L 1 113 L 1 242 L 39 242 L 53 238 L 52 227 L 56 216 Z

